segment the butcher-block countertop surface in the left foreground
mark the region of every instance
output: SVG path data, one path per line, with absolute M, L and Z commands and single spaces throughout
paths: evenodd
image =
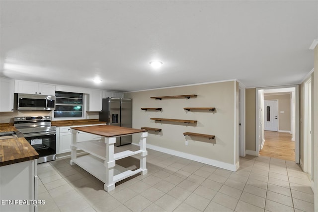
M 0 140 L 0 166 L 38 158 L 39 154 L 24 138 Z

